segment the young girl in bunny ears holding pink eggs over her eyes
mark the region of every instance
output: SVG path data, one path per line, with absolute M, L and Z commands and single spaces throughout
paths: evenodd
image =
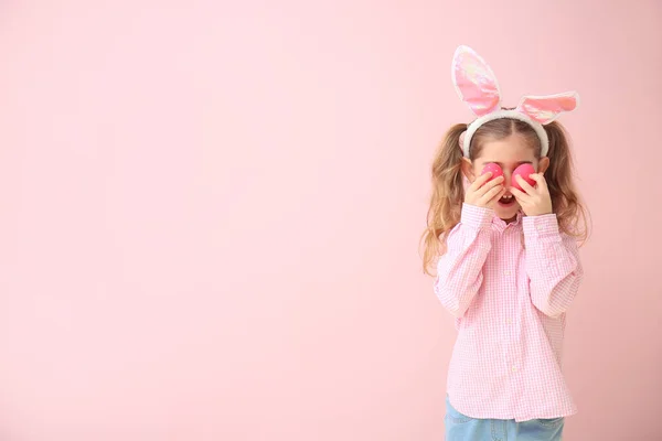
M 424 235 L 426 271 L 438 258 L 435 292 L 457 318 L 446 439 L 560 440 L 576 412 L 560 355 L 586 223 L 554 119 L 578 97 L 504 109 L 494 74 L 466 46 L 452 75 L 478 119 L 451 127 L 437 152 Z

